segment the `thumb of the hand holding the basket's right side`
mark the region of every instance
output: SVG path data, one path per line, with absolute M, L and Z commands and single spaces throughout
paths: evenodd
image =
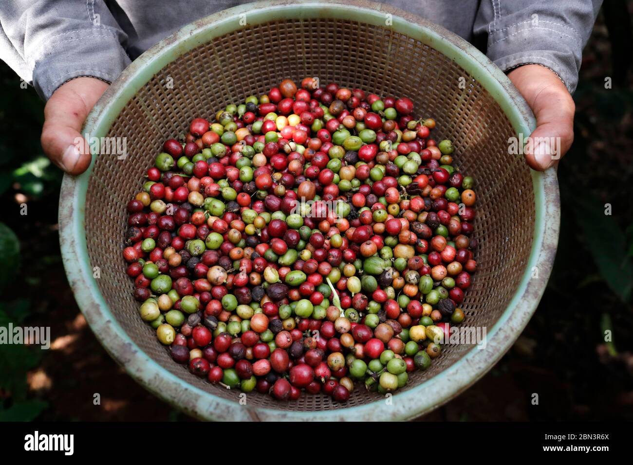
M 539 96 L 535 102 L 536 130 L 525 147 L 525 159 L 534 170 L 544 171 L 565 155 L 573 142 L 573 101 L 570 97 Z

